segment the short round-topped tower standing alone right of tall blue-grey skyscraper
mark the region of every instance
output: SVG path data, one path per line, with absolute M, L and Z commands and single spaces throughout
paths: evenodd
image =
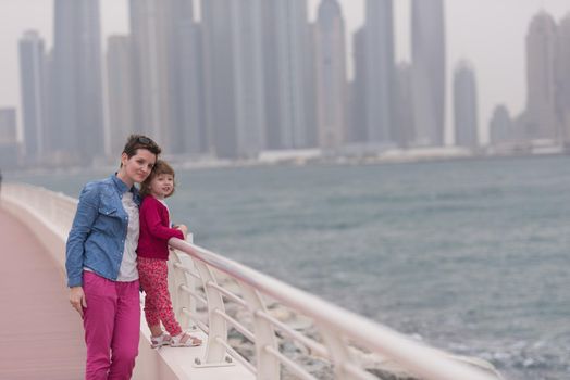
M 466 61 L 459 62 L 454 73 L 454 124 L 456 145 L 479 145 L 475 73 Z

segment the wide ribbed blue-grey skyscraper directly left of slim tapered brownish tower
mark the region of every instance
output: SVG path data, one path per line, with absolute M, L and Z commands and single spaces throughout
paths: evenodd
M 262 7 L 268 145 L 306 148 L 313 128 L 307 0 L 265 0 Z

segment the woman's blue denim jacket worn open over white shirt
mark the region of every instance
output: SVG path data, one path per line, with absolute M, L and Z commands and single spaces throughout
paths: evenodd
M 138 190 L 135 187 L 128 189 L 116 175 L 83 188 L 65 248 L 70 288 L 83 284 L 85 267 L 116 280 L 128 227 L 128 215 L 121 199 L 129 190 L 140 206 Z

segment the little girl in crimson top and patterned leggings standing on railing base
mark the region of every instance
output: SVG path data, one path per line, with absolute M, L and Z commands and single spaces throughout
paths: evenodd
M 150 176 L 141 183 L 140 236 L 137 249 L 138 275 L 145 291 L 145 317 L 151 333 L 152 347 L 200 345 L 200 339 L 183 332 L 176 321 L 169 294 L 168 266 L 171 238 L 184 239 L 188 229 L 181 225 L 171 228 L 164 199 L 174 193 L 174 170 L 158 160 Z M 169 333 L 164 333 L 160 326 Z

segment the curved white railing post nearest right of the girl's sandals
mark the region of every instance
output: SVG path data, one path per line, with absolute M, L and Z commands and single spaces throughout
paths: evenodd
M 196 269 L 202 279 L 203 291 L 208 300 L 208 343 L 206 345 L 206 364 L 224 363 L 225 347 L 218 341 L 227 342 L 227 328 L 225 319 L 215 311 L 225 313 L 222 295 L 208 283 L 218 283 L 210 268 L 201 262 L 195 262 Z

